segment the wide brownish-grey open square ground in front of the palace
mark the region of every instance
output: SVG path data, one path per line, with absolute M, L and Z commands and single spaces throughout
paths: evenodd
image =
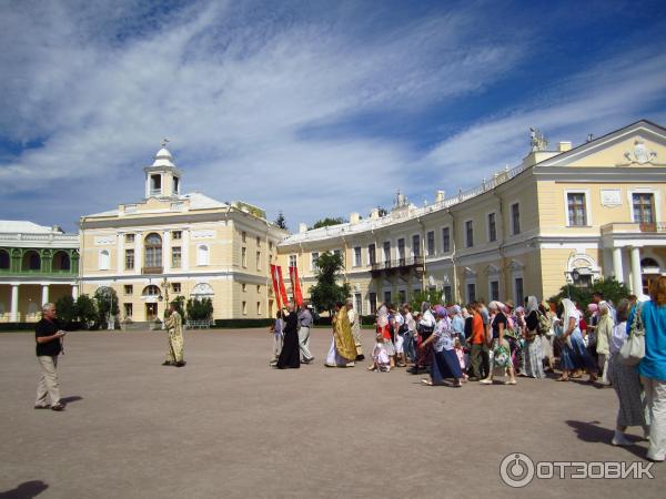
M 535 479 L 500 464 L 640 461 L 615 448 L 613 389 L 552 379 L 425 387 L 397 369 L 269 367 L 265 329 L 185 333 L 188 365 L 162 367 L 163 332 L 70 333 L 59 366 L 67 410 L 33 410 L 31 334 L 0 335 L 0 498 L 664 497 L 655 479 Z M 373 334 L 363 330 L 365 350 Z M 659 490 L 662 489 L 662 492 Z

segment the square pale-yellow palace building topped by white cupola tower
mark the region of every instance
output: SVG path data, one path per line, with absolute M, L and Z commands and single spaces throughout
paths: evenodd
M 215 319 L 270 317 L 269 268 L 287 233 L 248 203 L 181 194 L 164 143 L 143 171 L 142 201 L 81 217 L 81 292 L 113 288 L 133 322 L 162 318 L 179 295 L 211 298 Z

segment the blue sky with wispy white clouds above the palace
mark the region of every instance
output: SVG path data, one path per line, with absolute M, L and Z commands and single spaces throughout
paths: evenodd
M 0 2 L 0 218 L 78 230 L 183 192 L 291 231 L 481 184 L 529 150 L 666 125 L 659 1 Z

